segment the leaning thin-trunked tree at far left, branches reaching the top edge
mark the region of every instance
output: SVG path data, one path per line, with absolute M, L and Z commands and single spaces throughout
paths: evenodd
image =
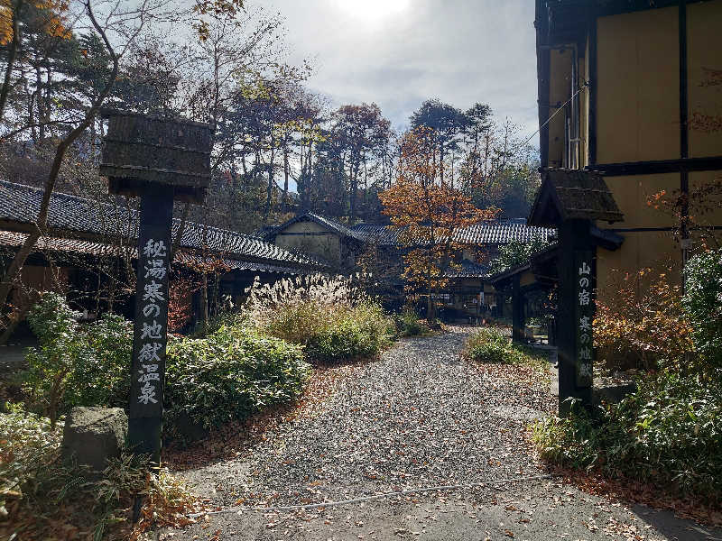
M 47 140 L 52 154 L 49 170 L 42 181 L 42 200 L 33 229 L 15 252 L 0 281 L 0 307 L 6 311 L 10 291 L 25 261 L 38 239 L 46 234 L 51 194 L 68 151 L 79 138 L 87 134 L 88 128 L 95 125 L 97 113 L 116 85 L 121 59 L 134 45 L 146 23 L 161 16 L 163 22 L 167 23 L 173 14 L 173 7 L 178 6 L 169 7 L 166 0 L 121 0 L 117 3 L 85 0 L 76 5 L 63 2 L 56 4 L 53 0 L 42 3 L 14 0 L 2 7 L 5 9 L 0 17 L 3 19 L 0 21 L 0 44 L 6 44 L 7 56 L 4 85 L 0 91 L 0 141 L 12 143 L 18 136 L 30 132 L 34 141 L 44 143 Z M 176 21 L 183 17 L 195 20 L 200 41 L 203 41 L 202 31 L 207 26 L 203 17 L 220 14 L 234 16 L 242 7 L 242 0 L 197 0 L 192 8 L 181 8 Z M 71 8 L 78 8 L 77 13 L 71 13 Z M 191 13 L 200 18 L 190 18 Z M 95 50 L 76 47 L 79 41 L 73 32 L 75 29 L 68 26 L 69 20 L 74 20 L 77 27 L 83 29 L 83 39 L 88 45 L 97 46 Z M 27 39 L 23 39 L 23 36 Z M 66 41 L 69 42 L 69 48 L 64 47 Z M 62 55 L 59 54 L 60 50 Z M 74 74 L 63 72 L 62 77 L 54 77 L 59 67 L 67 69 L 73 65 L 76 52 L 84 57 L 93 53 L 98 55 L 97 59 L 91 60 L 97 60 L 99 77 L 86 78 L 85 87 L 93 89 L 86 94 L 73 93 L 73 83 L 83 82 L 82 69 Z M 75 59 L 78 60 L 77 57 Z M 65 62 L 59 63 L 58 60 Z M 76 65 L 79 66 L 78 62 Z M 32 72 L 32 78 L 28 77 L 28 72 Z M 85 73 L 89 75 L 89 71 Z M 69 80 L 73 76 L 75 78 Z M 14 100 L 14 114 L 8 115 L 11 91 L 19 87 L 23 87 L 24 95 Z M 73 108 L 66 110 L 57 106 L 61 103 L 57 101 L 60 89 L 69 91 L 66 97 L 72 98 L 75 104 Z M 23 102 L 27 104 L 28 115 L 21 112 L 20 105 Z M 91 158 L 94 156 L 91 155 Z

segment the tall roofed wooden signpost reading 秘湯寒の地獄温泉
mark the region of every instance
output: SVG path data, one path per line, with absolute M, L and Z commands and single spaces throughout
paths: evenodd
M 100 174 L 111 193 L 141 198 L 128 440 L 160 463 L 173 200 L 202 202 L 210 179 L 208 124 L 106 111 Z

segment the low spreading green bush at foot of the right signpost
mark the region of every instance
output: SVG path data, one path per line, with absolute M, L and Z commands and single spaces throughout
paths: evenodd
M 542 457 L 575 468 L 671 486 L 684 495 L 722 499 L 720 379 L 660 371 L 638 381 L 617 405 L 533 426 Z

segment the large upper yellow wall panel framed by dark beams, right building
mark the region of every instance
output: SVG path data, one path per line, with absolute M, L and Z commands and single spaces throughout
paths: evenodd
M 677 7 L 597 19 L 597 162 L 680 157 Z

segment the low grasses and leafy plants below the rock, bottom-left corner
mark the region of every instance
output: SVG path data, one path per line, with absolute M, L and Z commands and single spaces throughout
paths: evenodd
M 128 539 L 149 527 L 189 523 L 199 499 L 166 469 L 148 472 L 123 455 L 86 476 L 60 456 L 60 427 L 14 405 L 0 413 L 0 536 L 4 539 Z M 146 496 L 134 527 L 134 495 Z

